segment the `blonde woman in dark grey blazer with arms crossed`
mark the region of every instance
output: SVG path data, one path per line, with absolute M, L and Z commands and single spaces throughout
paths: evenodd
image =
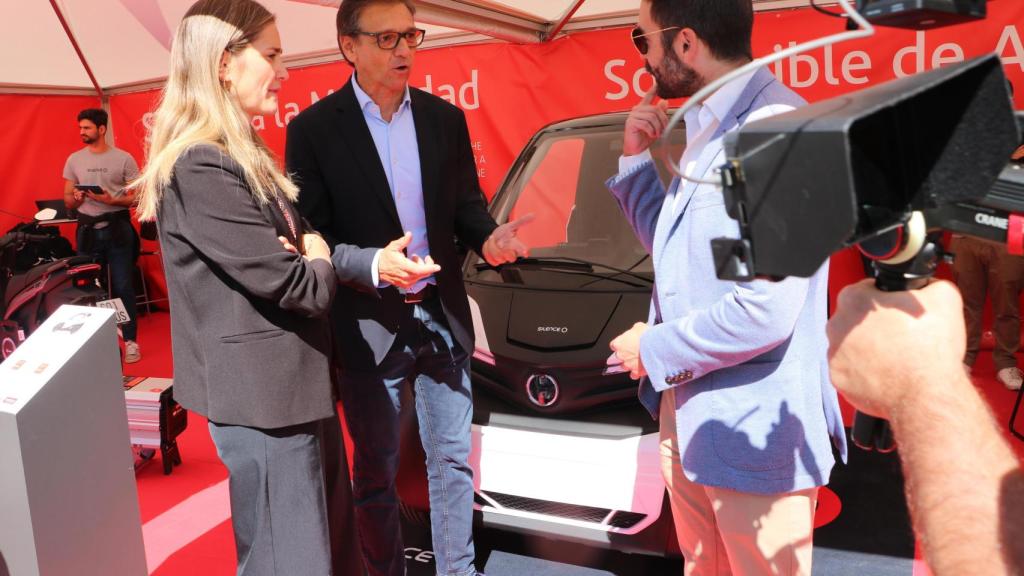
M 304 233 L 298 190 L 251 127 L 287 78 L 263 6 L 195 3 L 171 47 L 139 212 L 160 230 L 175 399 L 208 418 L 228 469 L 238 574 L 361 574 L 330 377 L 331 253 Z

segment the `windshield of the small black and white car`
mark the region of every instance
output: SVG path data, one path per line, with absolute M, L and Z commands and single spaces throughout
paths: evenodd
M 677 132 L 682 141 L 684 132 Z M 674 149 L 676 147 L 673 147 Z M 499 221 L 532 213 L 519 230 L 532 264 L 589 262 L 587 274 L 650 275 L 653 264 L 605 181 L 618 172 L 623 125 L 557 130 L 536 143 L 519 176 L 497 199 Z M 678 158 L 678 152 L 673 150 Z M 660 166 L 658 166 L 660 169 Z M 663 181 L 668 181 L 663 173 Z M 504 215 L 504 217 L 503 217 Z M 480 260 L 477 260 L 480 263 Z M 579 266 L 561 266 L 567 273 Z M 618 272 L 616 272 L 618 271 Z

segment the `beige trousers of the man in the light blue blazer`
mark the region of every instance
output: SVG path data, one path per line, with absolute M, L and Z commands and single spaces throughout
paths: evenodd
M 694 484 L 683 475 L 675 395 L 662 395 L 662 475 L 686 576 L 810 575 L 817 488 L 751 494 Z

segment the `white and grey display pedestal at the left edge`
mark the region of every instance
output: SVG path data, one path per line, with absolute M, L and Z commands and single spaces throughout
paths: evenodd
M 0 364 L 0 571 L 146 574 L 114 311 L 61 306 Z

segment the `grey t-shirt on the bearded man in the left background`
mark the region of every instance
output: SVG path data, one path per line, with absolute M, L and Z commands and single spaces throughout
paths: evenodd
M 102 154 L 83 148 L 68 157 L 63 175 L 65 179 L 76 184 L 98 186 L 112 196 L 121 196 L 125 193 L 125 186 L 138 175 L 138 164 L 130 154 L 114 147 Z M 89 216 L 98 216 L 124 209 L 124 206 L 111 206 L 86 198 L 78 211 Z

